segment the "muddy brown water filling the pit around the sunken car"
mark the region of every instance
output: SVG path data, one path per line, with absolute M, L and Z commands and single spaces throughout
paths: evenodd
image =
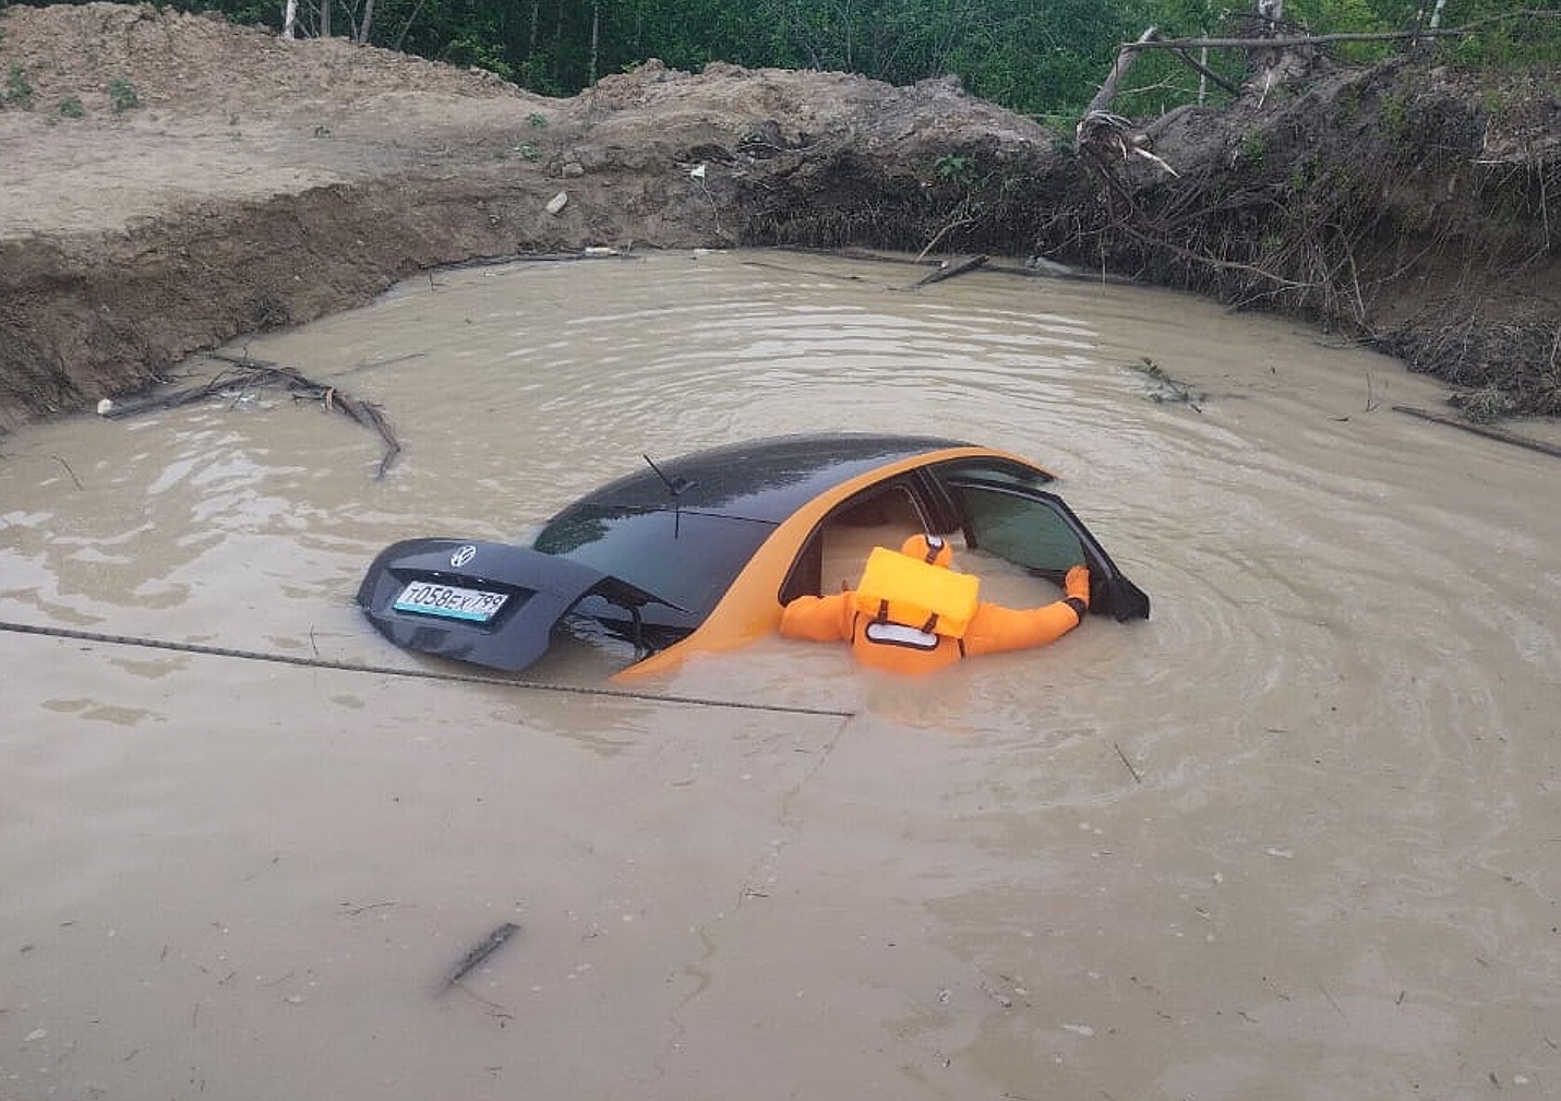
M 837 428 L 1043 461 L 1155 614 L 634 697 L 0 632 L 0 1098 L 1561 1093 L 1556 461 L 1293 323 L 915 275 L 454 270 L 242 345 L 382 403 L 381 481 L 267 392 L 8 437 L 6 622 L 426 668 L 384 543 Z

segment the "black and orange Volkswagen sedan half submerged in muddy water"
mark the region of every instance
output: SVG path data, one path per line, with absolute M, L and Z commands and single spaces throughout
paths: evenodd
M 529 545 L 387 547 L 357 603 L 398 647 L 506 672 L 542 657 L 562 620 L 584 617 L 634 643 L 620 676 L 649 673 L 773 632 L 790 600 L 837 590 L 873 543 L 926 531 L 1058 584 L 1085 562 L 1091 614 L 1147 618 L 1149 597 L 1052 481 L 1019 456 L 927 436 L 784 436 L 645 456 Z

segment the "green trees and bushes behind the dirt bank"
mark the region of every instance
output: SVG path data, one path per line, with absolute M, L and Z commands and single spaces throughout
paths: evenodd
M 0 0 L 0 8 L 14 0 Z M 281 27 L 278 0 L 159 0 L 234 23 Z M 1422 0 L 1286 0 L 1285 17 L 1316 33 L 1402 31 Z M 1552 8 L 1553 5 L 1534 5 Z M 356 34 L 365 6 L 336 3 L 332 31 Z M 1250 23 L 1252 0 L 376 0 L 368 41 L 475 66 L 543 95 L 571 95 L 599 73 L 649 58 L 698 72 L 712 61 L 862 73 L 894 84 L 958 77 L 973 94 L 1030 116 L 1077 117 L 1118 48 L 1146 27 L 1166 36 L 1222 36 Z M 317 33 L 317 5 L 300 5 L 300 33 Z M 1513 0 L 1449 0 L 1436 39 L 1458 66 L 1561 64 L 1561 19 L 1520 14 Z M 1403 42 L 1336 44 L 1344 59 L 1374 59 Z M 1233 83 L 1239 50 L 1210 50 Z M 1154 114 L 1199 97 L 1199 77 L 1168 50 L 1146 50 L 1116 111 Z M 1210 84 L 1205 92 L 1216 100 Z M 0 92 L 3 102 L 16 102 Z M 120 108 L 123 109 L 123 108 Z

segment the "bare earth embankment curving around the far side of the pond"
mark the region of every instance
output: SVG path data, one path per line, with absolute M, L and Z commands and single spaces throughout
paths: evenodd
M 0 80 L 0 429 L 440 264 L 933 241 L 1302 312 L 1561 412 L 1541 84 L 1316 73 L 1161 120 L 1172 178 L 1091 166 L 954 81 L 651 64 L 549 100 L 147 6 L 11 8 Z

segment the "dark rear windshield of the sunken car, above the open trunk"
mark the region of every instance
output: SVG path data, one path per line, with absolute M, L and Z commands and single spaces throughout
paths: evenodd
M 673 618 L 698 626 L 774 528 L 709 512 L 585 504 L 556 517 L 534 547 L 670 601 L 690 614 Z

